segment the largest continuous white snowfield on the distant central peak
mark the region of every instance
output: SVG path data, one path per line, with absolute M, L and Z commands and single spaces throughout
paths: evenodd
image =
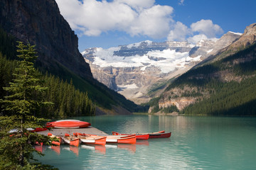
M 119 47 L 112 47 L 107 50 L 97 48 L 95 60 L 92 64 L 100 67 L 141 67 L 142 70 L 154 66 L 159 67 L 162 73 L 168 73 L 176 67 L 184 67 L 188 61 L 195 60 L 188 56 L 188 52 L 176 52 L 176 50 L 170 49 L 163 51 L 153 50 L 143 56 L 134 55 L 130 57 L 114 55 L 116 50 L 119 50 Z

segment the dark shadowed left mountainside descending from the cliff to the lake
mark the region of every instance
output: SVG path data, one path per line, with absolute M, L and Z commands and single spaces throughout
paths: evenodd
M 87 91 L 97 106 L 119 108 L 124 113 L 138 108 L 124 96 L 93 79 L 89 64 L 78 51 L 78 37 L 60 15 L 54 0 L 0 1 L 0 26 L 16 40 L 36 44 L 38 69 L 68 82 L 72 79 L 76 88 Z

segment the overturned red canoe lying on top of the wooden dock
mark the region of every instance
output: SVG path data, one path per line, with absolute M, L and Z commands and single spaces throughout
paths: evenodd
M 80 120 L 57 120 L 46 123 L 46 128 L 87 128 L 90 125 L 90 123 Z

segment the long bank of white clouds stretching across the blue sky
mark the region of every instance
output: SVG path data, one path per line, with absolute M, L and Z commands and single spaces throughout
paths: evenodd
M 155 4 L 155 0 L 56 0 L 60 13 L 73 30 L 87 36 L 98 36 L 118 30 L 131 36 L 196 43 L 213 39 L 223 29 L 211 20 L 201 20 L 186 26 L 174 21 L 171 6 Z M 184 0 L 178 0 L 183 4 Z

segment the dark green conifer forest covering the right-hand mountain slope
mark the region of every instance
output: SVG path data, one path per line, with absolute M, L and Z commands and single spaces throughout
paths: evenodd
M 225 55 L 227 57 L 189 70 L 166 88 L 169 99 L 196 99 L 196 103 L 179 111 L 180 114 L 256 115 L 256 43 L 233 55 Z M 185 91 L 185 87 L 191 91 Z M 173 89 L 181 93 L 170 92 Z M 174 106 L 159 108 L 161 98 L 164 94 L 149 102 L 153 108 L 151 113 L 177 111 Z

